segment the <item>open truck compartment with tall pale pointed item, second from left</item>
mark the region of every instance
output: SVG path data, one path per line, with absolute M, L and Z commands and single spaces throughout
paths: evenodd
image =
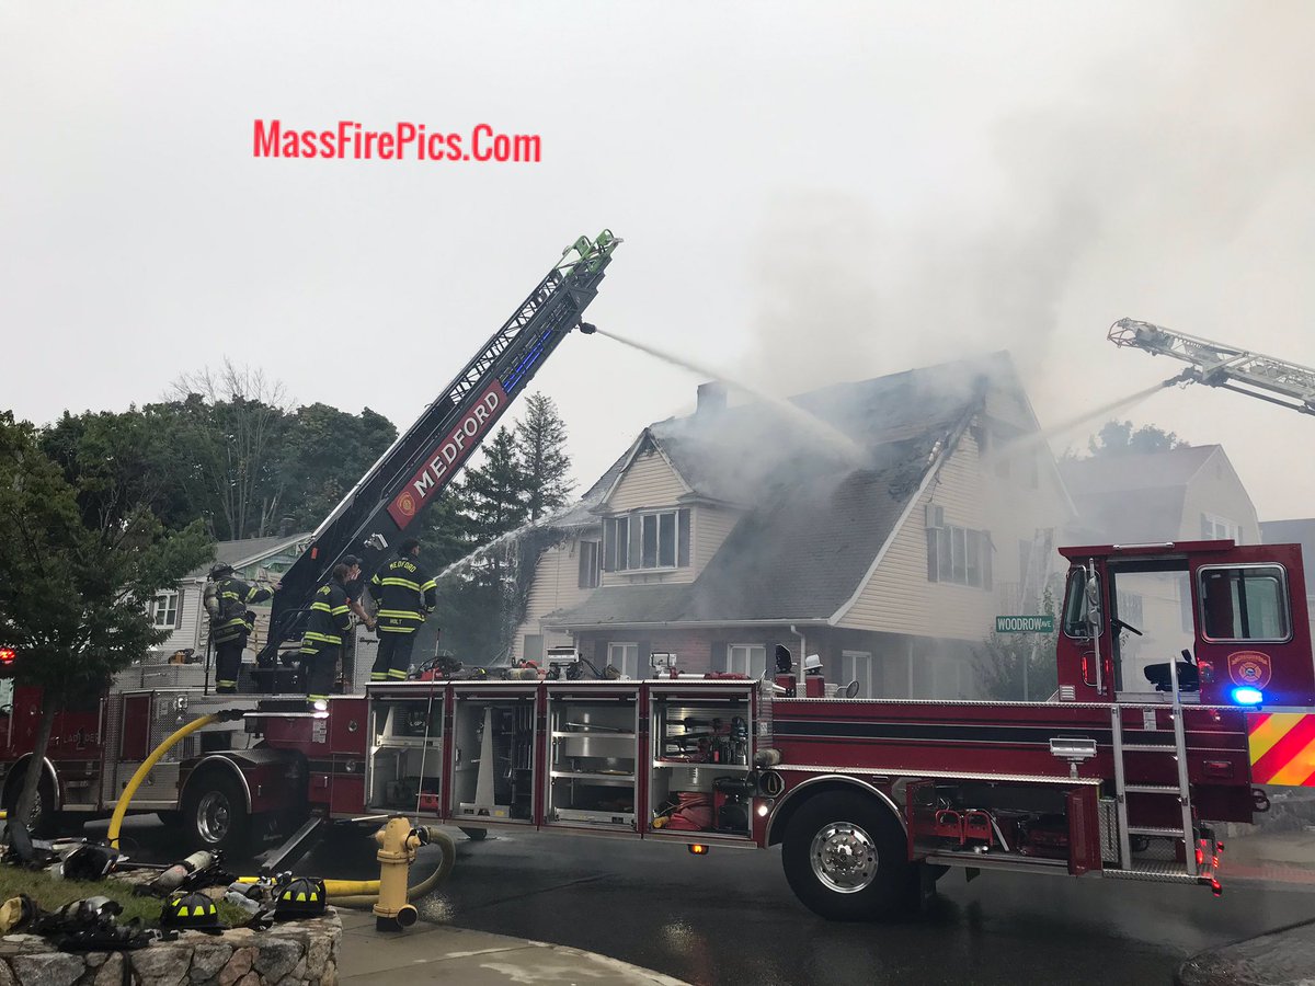
M 454 720 L 458 820 L 534 820 L 534 695 L 462 697 Z

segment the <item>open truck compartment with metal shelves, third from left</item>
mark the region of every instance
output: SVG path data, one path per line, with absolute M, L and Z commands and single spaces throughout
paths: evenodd
M 550 698 L 548 822 L 635 827 L 636 695 Z

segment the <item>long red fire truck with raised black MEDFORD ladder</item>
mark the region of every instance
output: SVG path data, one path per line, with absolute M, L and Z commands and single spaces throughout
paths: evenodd
M 489 828 L 782 847 L 790 886 L 828 918 L 915 906 L 948 868 L 1205 885 L 1218 823 L 1251 822 L 1258 784 L 1315 784 L 1315 664 L 1298 546 L 1231 540 L 1063 548 L 1059 690 L 1048 702 L 826 697 L 803 655 L 752 681 L 556 677 L 368 685 L 308 707 L 279 644 L 347 551 L 379 552 L 442 489 L 592 298 L 617 241 L 583 239 L 517 316 L 321 526 L 275 599 L 260 697 L 208 694 L 200 665 L 142 665 L 57 720 L 38 820 L 112 809 L 159 740 L 200 713 L 242 710 L 160 760 L 134 809 L 230 847 L 405 812 Z M 493 397 L 492 404 L 489 402 Z M 487 413 L 476 415 L 483 406 Z M 367 555 L 368 561 L 368 555 Z M 1123 681 L 1120 611 L 1137 578 L 1187 586 L 1191 647 Z M 781 648 L 784 651 L 784 648 Z M 660 656 L 655 655 L 655 659 Z M 191 677 L 189 677 L 191 676 Z M 359 680 L 359 678 L 358 678 Z M 1145 701 L 1120 701 L 1145 692 Z M 5 798 L 32 763 L 39 697 L 0 723 Z M 300 826 L 300 828 L 299 828 Z M 284 851 L 280 851 L 284 852 Z

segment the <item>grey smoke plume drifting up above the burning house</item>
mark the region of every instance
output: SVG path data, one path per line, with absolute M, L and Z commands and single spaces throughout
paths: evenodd
M 798 392 L 1009 350 L 1030 389 L 1072 411 L 1105 397 L 1084 373 L 1093 358 L 1132 359 L 1105 352 L 1114 318 L 1237 294 L 1227 272 L 1256 263 L 1239 238 L 1286 230 L 1285 202 L 1310 204 L 1315 7 L 1193 8 L 1174 26 L 1172 49 L 1130 32 L 1077 91 L 1048 96 L 1039 80 L 1036 104 L 992 128 L 994 174 L 965 174 L 965 191 L 913 217 L 898 189 L 780 195 L 760 229 L 744 375 Z M 1299 280 L 1295 259 L 1279 262 Z

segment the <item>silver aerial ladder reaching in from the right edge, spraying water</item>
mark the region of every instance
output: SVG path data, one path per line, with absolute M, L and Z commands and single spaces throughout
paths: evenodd
M 1315 414 L 1315 369 L 1301 363 L 1176 333 L 1151 322 L 1120 318 L 1107 337 L 1115 346 L 1172 356 L 1187 368 L 1178 380 L 1236 390 L 1302 414 Z

